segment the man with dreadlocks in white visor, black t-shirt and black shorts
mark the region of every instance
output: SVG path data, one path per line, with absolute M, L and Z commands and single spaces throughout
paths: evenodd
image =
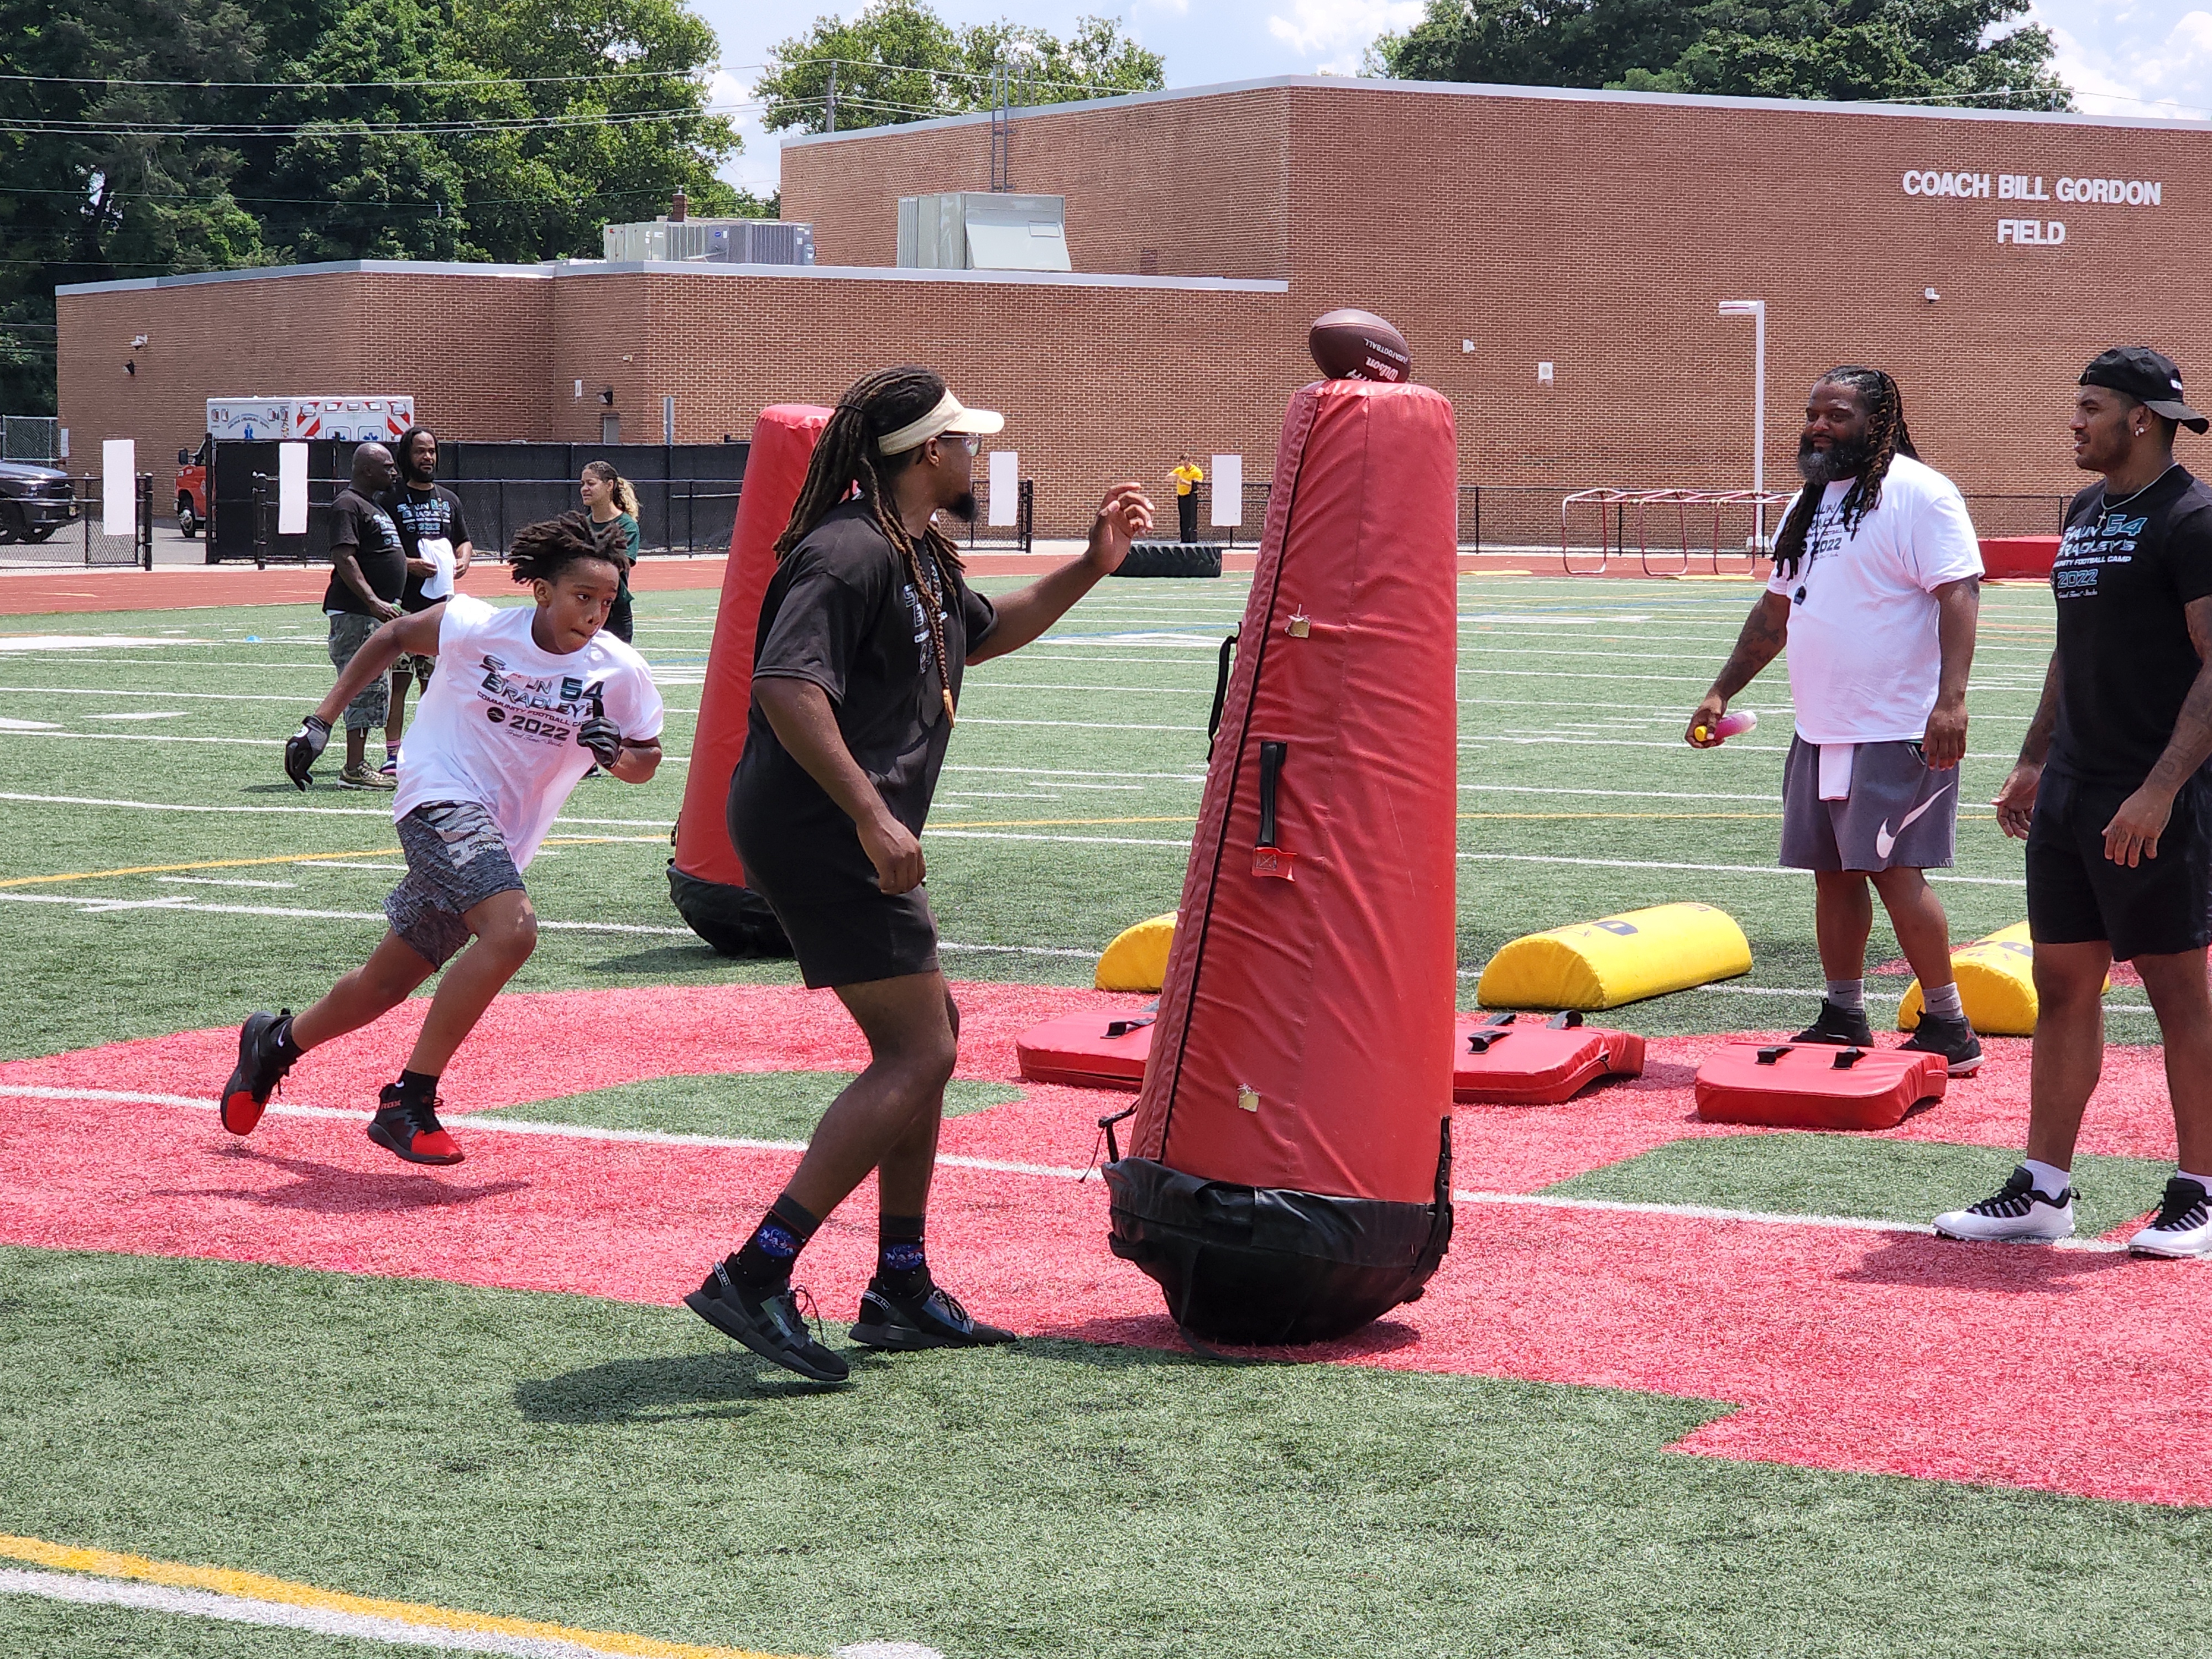
M 1079 560 L 984 599 L 936 515 L 975 515 L 975 449 L 1002 425 L 964 409 L 931 369 L 858 380 L 823 427 L 761 604 L 730 841 L 807 987 L 834 989 L 860 1026 L 869 1066 L 823 1113 L 743 1248 L 684 1301 L 816 1383 L 843 1383 L 847 1365 L 810 1334 L 792 1263 L 872 1170 L 880 1241 L 854 1340 L 887 1349 L 1013 1340 L 938 1290 L 922 1252 L 960 1011 L 938 971 L 920 834 L 962 668 L 1051 628 L 1119 568 L 1130 540 L 1152 526 L 1152 504 L 1135 482 L 1115 484 Z

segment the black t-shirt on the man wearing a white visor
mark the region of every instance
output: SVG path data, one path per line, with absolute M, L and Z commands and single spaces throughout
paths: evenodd
M 984 641 L 998 613 L 960 571 L 933 571 L 927 553 L 922 568 L 942 580 L 945 661 L 958 701 L 969 650 Z M 821 686 L 836 710 L 845 748 L 876 783 L 891 816 L 914 834 L 922 832 L 951 721 L 945 719 L 922 599 L 867 504 L 834 509 L 776 566 L 761 602 L 752 675 L 757 681 L 807 679 Z M 730 787 L 748 838 L 776 843 L 774 863 L 785 872 L 779 898 L 830 902 L 874 891 L 876 872 L 860 852 L 852 818 L 776 741 L 759 697 L 752 699 L 745 754 Z M 814 874 L 805 878 L 810 891 L 787 891 L 794 863 L 818 874 L 818 880 Z

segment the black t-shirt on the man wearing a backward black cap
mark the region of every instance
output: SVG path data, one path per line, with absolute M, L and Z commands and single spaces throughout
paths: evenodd
M 2139 785 L 2203 666 L 2183 606 L 2212 595 L 2212 489 L 2174 467 L 2117 507 L 2090 484 L 2066 511 L 2051 568 L 2059 723 L 2051 765 Z

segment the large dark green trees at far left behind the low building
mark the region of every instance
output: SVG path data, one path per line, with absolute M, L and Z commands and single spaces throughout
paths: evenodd
M 53 409 L 55 283 L 597 254 L 677 188 L 768 206 L 714 177 L 739 137 L 681 0 L 0 0 L 0 40 L 40 77 L 0 82 L 9 411 Z

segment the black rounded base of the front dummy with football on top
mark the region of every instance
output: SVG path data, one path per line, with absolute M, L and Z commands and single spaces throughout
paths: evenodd
M 1451 1124 L 1433 1203 L 1206 1181 L 1144 1157 L 1106 1166 L 1108 1245 L 1214 1343 L 1325 1343 L 1418 1301 L 1451 1243 Z

